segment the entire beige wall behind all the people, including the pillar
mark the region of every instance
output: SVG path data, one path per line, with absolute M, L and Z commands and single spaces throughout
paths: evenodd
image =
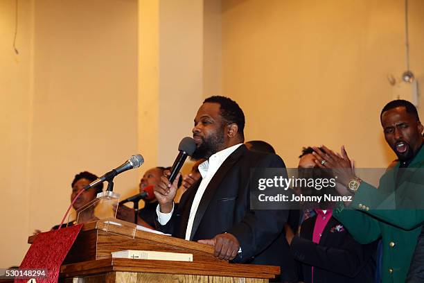
M 139 152 L 145 165 L 115 181 L 129 196 L 145 169 L 171 164 L 204 96 L 238 101 L 246 138 L 270 141 L 288 166 L 322 143 L 386 166 L 378 116 L 387 74 L 405 70 L 401 2 L 19 1 L 16 55 L 15 1 L 0 1 L 0 266 L 60 221 L 75 173 Z M 409 3 L 424 83 L 424 3 Z

